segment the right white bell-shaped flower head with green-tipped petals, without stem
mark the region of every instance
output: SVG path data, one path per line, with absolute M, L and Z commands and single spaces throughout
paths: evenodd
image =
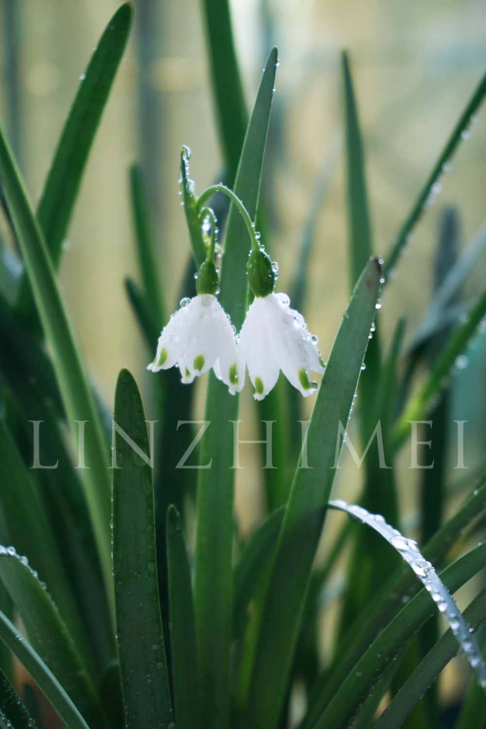
M 307 332 L 304 317 L 289 304 L 286 294 L 257 296 L 243 322 L 237 349 L 238 391 L 248 367 L 256 400 L 273 389 L 280 370 L 305 397 L 317 389 L 310 371 L 324 373 L 317 338 Z

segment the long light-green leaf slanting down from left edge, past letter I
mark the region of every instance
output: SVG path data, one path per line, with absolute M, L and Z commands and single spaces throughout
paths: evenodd
M 106 592 L 113 604 L 111 544 L 109 539 L 109 459 L 103 425 L 87 381 L 76 338 L 60 295 L 42 231 L 31 210 L 20 171 L 0 128 L 0 180 L 9 200 L 12 221 L 31 282 L 37 311 L 52 352 L 52 361 L 68 424 L 78 441 L 77 421 L 86 421 L 83 486 L 93 523 Z

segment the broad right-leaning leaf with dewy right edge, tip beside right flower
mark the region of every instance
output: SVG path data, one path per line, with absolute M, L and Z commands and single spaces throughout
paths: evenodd
M 368 263 L 350 298 L 307 429 L 310 469 L 297 469 L 264 604 L 248 693 L 246 724 L 273 729 L 281 712 L 315 550 L 335 469 L 338 425 L 348 423 L 368 332 L 375 318 L 381 268 Z M 341 445 L 341 444 L 340 444 Z

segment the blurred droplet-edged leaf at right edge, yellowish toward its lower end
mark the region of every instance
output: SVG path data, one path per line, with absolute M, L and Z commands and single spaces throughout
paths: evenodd
M 461 321 L 458 327 L 450 335 L 446 346 L 442 353 L 436 359 L 434 367 L 432 367 L 428 378 L 410 400 L 409 404 L 402 413 L 401 418 L 393 431 L 393 445 L 399 448 L 403 443 L 409 430 L 409 421 L 420 420 L 426 408 L 436 407 L 437 402 L 434 398 L 439 396 L 440 391 L 444 389 L 450 367 L 455 362 L 455 358 L 466 348 L 466 342 L 471 336 L 474 336 L 477 324 L 486 312 L 486 289 L 477 299 L 477 302 L 471 307 L 464 323 Z

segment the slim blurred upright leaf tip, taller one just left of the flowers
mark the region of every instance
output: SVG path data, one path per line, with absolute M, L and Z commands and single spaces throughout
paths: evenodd
M 154 241 L 150 230 L 149 211 L 146 203 L 144 181 L 138 165 L 130 168 L 130 185 L 132 192 L 133 217 L 144 292 L 149 313 L 154 320 L 155 328 L 160 332 L 167 317 L 160 290 L 160 276 L 157 275 Z M 128 288 L 128 281 L 126 282 Z M 130 292 L 129 292 L 130 295 Z

